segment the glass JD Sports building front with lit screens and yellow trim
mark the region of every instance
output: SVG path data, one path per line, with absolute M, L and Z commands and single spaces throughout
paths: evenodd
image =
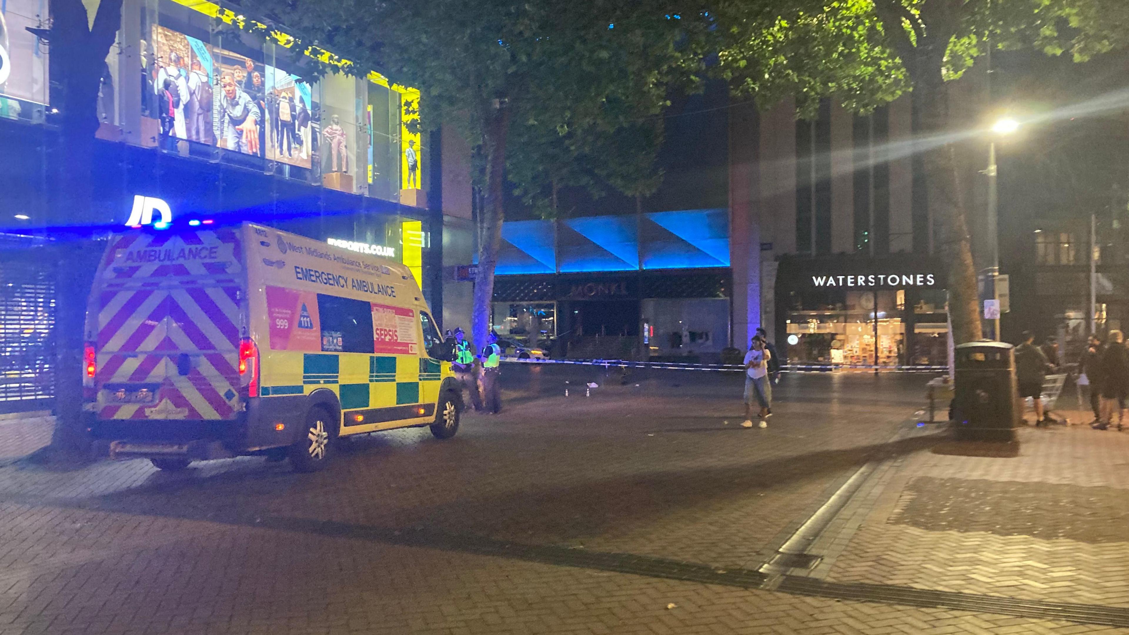
M 469 321 L 465 285 L 444 276 L 444 244 L 457 252 L 472 235 L 465 143 L 415 132 L 417 90 L 376 71 L 307 79 L 281 44 L 221 28 L 235 17 L 211 2 L 124 2 L 102 77 L 88 216 L 54 212 L 65 183 L 51 153 L 65 148 L 52 124 L 50 49 L 25 28 L 44 27 L 45 11 L 11 0 L 2 14 L 12 63 L 0 76 L 0 284 L 18 290 L 0 302 L 0 411 L 50 403 L 53 294 L 76 276 L 71 247 L 142 224 L 251 220 L 393 258 L 436 314 Z

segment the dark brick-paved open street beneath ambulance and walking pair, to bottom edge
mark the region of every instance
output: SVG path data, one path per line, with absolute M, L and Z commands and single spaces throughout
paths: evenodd
M 534 394 L 562 382 L 514 375 Z M 743 430 L 739 377 L 684 375 L 527 394 L 449 442 L 358 440 L 317 475 L 0 468 L 0 634 L 1119 632 L 562 566 L 623 551 L 754 568 L 876 450 L 909 464 L 931 443 L 886 444 L 924 379 L 796 379 L 767 430 Z M 412 543 L 415 528 L 471 538 Z M 557 555 L 482 555 L 475 536 Z

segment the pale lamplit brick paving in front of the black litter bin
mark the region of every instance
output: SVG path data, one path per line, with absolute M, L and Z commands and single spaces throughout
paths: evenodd
M 1129 434 L 1025 428 L 1015 458 L 937 450 L 955 451 L 892 469 L 829 580 L 1129 606 Z

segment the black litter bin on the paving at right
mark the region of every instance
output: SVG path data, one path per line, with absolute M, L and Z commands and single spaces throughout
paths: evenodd
M 1014 441 L 1018 401 L 1012 345 L 984 340 L 956 347 L 953 421 L 957 437 Z

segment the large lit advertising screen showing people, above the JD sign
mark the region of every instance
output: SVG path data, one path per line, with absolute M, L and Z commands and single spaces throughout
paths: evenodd
M 152 27 L 152 43 L 150 111 L 164 139 L 312 166 L 317 102 L 309 84 L 161 26 Z

